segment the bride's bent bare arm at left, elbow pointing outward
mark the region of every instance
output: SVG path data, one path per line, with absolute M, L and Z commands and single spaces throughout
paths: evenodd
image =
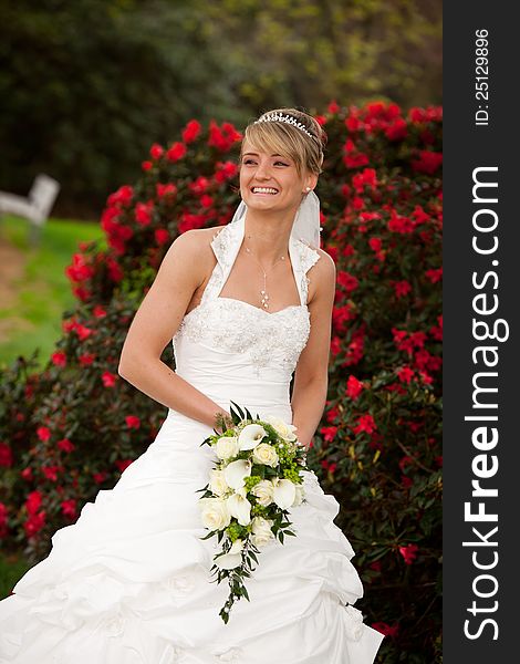
M 187 231 L 171 243 L 132 321 L 117 372 L 158 403 L 215 427 L 217 414 L 229 417 L 229 413 L 160 360 L 209 270 L 211 249 L 205 245 L 207 236 L 199 230 Z

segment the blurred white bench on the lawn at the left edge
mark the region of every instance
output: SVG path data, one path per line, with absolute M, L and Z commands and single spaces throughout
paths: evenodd
M 31 243 L 34 246 L 59 190 L 60 184 L 54 178 L 40 174 L 34 178 L 27 198 L 0 191 L 0 217 L 10 214 L 29 219 L 31 221 Z

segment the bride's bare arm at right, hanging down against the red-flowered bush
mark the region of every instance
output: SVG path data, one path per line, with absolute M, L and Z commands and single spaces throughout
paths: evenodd
M 311 332 L 294 372 L 291 406 L 297 436 L 309 448 L 326 403 L 329 353 L 332 332 L 336 270 L 331 256 L 320 249 L 322 260 L 313 268 L 314 293 L 309 302 Z

